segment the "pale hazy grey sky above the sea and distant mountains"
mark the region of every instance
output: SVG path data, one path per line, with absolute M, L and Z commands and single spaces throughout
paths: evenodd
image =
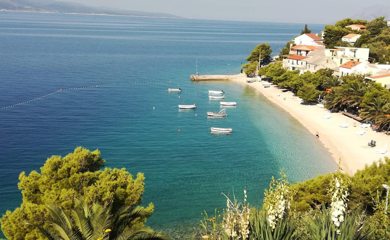
M 332 23 L 389 0 L 62 0 L 122 10 L 164 12 L 184 18 L 291 23 Z M 370 3 L 369 5 L 367 3 Z M 378 7 L 376 9 L 381 9 Z

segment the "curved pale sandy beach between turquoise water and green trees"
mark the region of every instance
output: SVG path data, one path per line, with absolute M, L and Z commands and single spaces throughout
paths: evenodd
M 329 114 L 328 110 L 316 105 L 303 105 L 292 92 L 282 92 L 282 89 L 278 89 L 276 85 L 264 88 L 262 85 L 264 82 L 247 83 L 249 79 L 254 80 L 254 78 L 247 78 L 245 74 L 239 74 L 235 75 L 232 81 L 254 87 L 270 101 L 289 112 L 313 134 L 313 140 L 322 142 L 329 149 L 335 161 L 338 162 L 341 158 L 345 172 L 353 174 L 358 169 L 363 169 L 365 164 L 370 165 L 388 156 L 388 154 L 376 153 L 378 149 L 384 148 L 385 143 L 390 142 L 390 136 L 385 133 L 366 128 L 365 135 L 356 135 L 355 132 L 363 130 L 358 121 L 341 113 L 331 113 L 330 119 L 324 119 L 323 117 Z M 349 127 L 341 128 L 339 125 L 345 124 L 346 121 Z M 319 132 L 318 140 L 316 139 L 317 131 Z M 371 140 L 376 141 L 376 147 L 367 146 Z

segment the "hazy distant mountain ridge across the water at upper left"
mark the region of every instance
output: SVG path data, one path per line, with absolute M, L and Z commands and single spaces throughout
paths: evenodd
M 162 12 L 140 12 L 113 9 L 109 7 L 90 7 L 78 3 L 60 2 L 54 0 L 34 0 L 34 2 L 27 0 L 0 0 L 0 9 L 5 9 L 9 11 L 59 12 L 154 18 L 183 18 L 180 16 Z

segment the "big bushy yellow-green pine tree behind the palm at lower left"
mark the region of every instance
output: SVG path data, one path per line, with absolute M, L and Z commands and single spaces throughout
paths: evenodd
M 99 170 L 104 163 L 99 150 L 91 152 L 78 147 L 65 157 L 53 155 L 48 158 L 40 173 L 32 171 L 27 176 L 21 172 L 18 187 L 23 202 L 19 208 L 3 215 L 4 235 L 13 240 L 46 240 L 38 229 L 26 226 L 24 222 L 46 228 L 50 217 L 46 205 L 55 204 L 69 213 L 80 195 L 89 205 L 99 201 L 105 206 L 112 204 L 113 209 L 126 204 L 145 210 L 147 214 L 138 219 L 141 226 L 153 212 L 152 203 L 147 208 L 138 206 L 144 191 L 144 175 L 138 173 L 134 179 L 124 168 Z

